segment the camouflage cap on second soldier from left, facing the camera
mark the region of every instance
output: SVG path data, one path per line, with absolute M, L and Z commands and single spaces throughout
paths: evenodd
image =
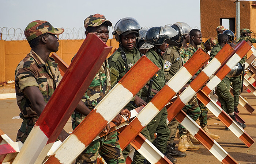
M 109 20 L 106 20 L 106 17 L 104 15 L 101 15 L 99 13 L 90 15 L 84 20 L 84 27 L 85 29 L 88 26 L 91 27 L 97 27 L 101 25 L 102 23 L 106 22 L 107 26 L 112 26 L 112 23 Z

